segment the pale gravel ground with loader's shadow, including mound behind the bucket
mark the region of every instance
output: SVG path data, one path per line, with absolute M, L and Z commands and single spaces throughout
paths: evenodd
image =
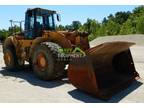
M 129 41 L 136 70 L 141 78 L 107 102 L 144 102 L 144 36 L 107 36 L 92 41 L 91 47 L 107 41 Z M 2 51 L 0 49 L 0 51 Z M 25 68 L 20 72 L 5 70 L 0 52 L 0 102 L 105 102 L 80 92 L 67 80 L 41 81 Z

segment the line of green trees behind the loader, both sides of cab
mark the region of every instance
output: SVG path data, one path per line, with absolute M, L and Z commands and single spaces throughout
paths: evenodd
M 5 40 L 11 34 L 12 29 L 10 27 L 8 30 L 0 30 L 0 40 Z M 120 11 L 110 14 L 103 18 L 102 22 L 88 18 L 84 24 L 80 21 L 73 21 L 70 25 L 59 25 L 56 29 L 88 32 L 90 41 L 100 36 L 144 34 L 144 6 L 138 6 L 132 12 Z

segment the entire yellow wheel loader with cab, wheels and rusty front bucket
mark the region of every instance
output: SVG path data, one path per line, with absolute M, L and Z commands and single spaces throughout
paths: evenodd
M 22 69 L 27 61 L 40 79 L 55 80 L 67 74 L 72 85 L 102 99 L 139 77 L 129 50 L 133 43 L 110 42 L 90 48 L 87 33 L 57 31 L 55 19 L 60 21 L 56 11 L 26 11 L 24 31 L 13 33 L 3 44 L 7 69 Z

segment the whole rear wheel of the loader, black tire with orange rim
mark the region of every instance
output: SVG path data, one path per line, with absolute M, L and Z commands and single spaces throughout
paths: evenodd
M 20 64 L 18 62 L 18 58 L 16 56 L 16 51 L 13 46 L 9 46 L 4 49 L 4 62 L 6 68 L 10 71 L 17 71 L 23 67 L 24 64 Z

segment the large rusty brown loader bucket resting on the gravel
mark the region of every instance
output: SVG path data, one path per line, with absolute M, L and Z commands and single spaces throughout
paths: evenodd
M 89 49 L 85 57 L 72 58 L 68 78 L 76 88 L 109 99 L 136 77 L 129 47 L 134 43 L 109 42 Z

